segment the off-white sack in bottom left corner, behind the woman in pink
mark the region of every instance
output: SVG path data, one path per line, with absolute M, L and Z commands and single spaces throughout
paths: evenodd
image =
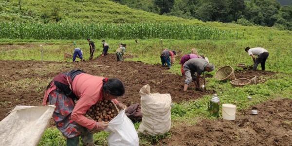
M 0 146 L 37 146 L 55 106 L 16 106 L 0 122 Z

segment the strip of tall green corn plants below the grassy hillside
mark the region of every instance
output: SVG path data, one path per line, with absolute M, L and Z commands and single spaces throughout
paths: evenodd
M 209 26 L 167 23 L 19 23 L 1 22 L 0 38 L 9 39 L 239 39 L 236 31 L 219 30 Z

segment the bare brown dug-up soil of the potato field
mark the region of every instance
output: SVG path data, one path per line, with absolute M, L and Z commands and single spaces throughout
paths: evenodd
M 153 92 L 170 93 L 172 101 L 177 103 L 197 99 L 205 94 L 194 91 L 194 84 L 191 84 L 188 91 L 183 92 L 185 78 L 168 73 L 167 68 L 160 64 L 149 65 L 139 61 L 117 62 L 113 54 L 74 63 L 1 60 L 0 120 L 17 105 L 40 106 L 44 90 L 51 79 L 58 73 L 73 69 L 81 69 L 97 76 L 121 79 L 125 84 L 126 93 L 118 100 L 128 106 L 140 103 L 139 91 L 146 84 L 150 85 Z M 269 71 L 239 71 L 236 72 L 236 77 L 249 77 L 255 73 L 260 82 L 265 81 L 262 80 L 262 75 L 274 74 Z M 43 81 L 46 83 L 41 84 L 40 82 Z M 202 78 L 201 83 L 203 83 Z M 216 91 L 208 91 L 211 94 L 214 92 Z M 254 108 L 258 109 L 258 115 L 250 115 L 251 109 L 249 109 L 237 112 L 235 121 L 203 120 L 194 126 L 177 126 L 170 129 L 171 138 L 165 138 L 157 145 L 292 146 L 291 107 L 291 99 L 274 100 L 256 105 Z M 51 122 L 51 126 L 53 125 L 54 123 Z

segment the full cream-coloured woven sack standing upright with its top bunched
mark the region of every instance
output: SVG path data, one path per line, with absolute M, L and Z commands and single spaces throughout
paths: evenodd
M 138 132 L 158 135 L 168 132 L 171 124 L 170 94 L 150 93 L 150 86 L 140 89 L 142 123 Z

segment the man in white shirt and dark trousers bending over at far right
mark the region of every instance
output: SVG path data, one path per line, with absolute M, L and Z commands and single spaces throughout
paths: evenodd
M 260 63 L 260 66 L 262 68 L 262 71 L 265 70 L 266 60 L 269 56 L 269 52 L 266 49 L 261 48 L 261 47 L 256 47 L 256 48 L 246 47 L 245 52 L 247 52 L 249 55 L 251 55 L 253 57 L 253 61 L 254 61 L 253 70 L 254 71 L 256 70 L 257 65 L 259 63 Z M 257 55 L 256 58 L 255 58 L 255 55 Z

